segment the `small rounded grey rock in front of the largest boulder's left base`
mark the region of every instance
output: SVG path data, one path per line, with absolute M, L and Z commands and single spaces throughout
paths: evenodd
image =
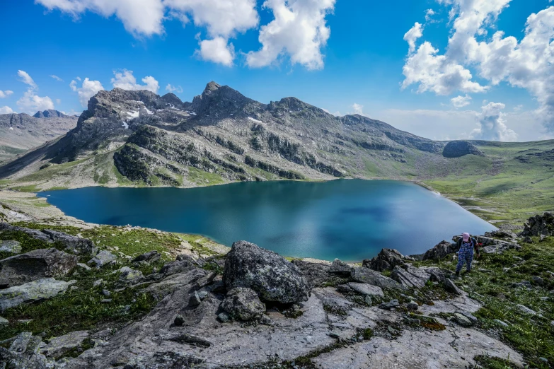
M 251 288 L 237 287 L 227 293 L 221 308 L 238 320 L 260 319 L 265 313 L 265 305 Z

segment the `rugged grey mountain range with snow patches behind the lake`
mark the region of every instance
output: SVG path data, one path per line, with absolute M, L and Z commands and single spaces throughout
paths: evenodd
M 480 212 L 487 206 L 493 213 L 505 211 L 497 201 L 487 204 L 490 197 L 521 191 L 528 182 L 546 186 L 546 192 L 536 189 L 538 201 L 551 194 L 553 158 L 554 141 L 432 141 L 362 115 L 335 117 L 297 98 L 264 104 L 210 82 L 192 102 L 173 93 L 100 91 L 76 127 L 4 163 L 0 179 L 33 191 L 343 177 L 414 180 L 453 199 L 478 197 L 484 202 L 464 204 L 491 218 Z M 514 180 L 512 171 L 527 182 Z M 469 179 L 454 181 L 464 183 L 460 188 L 449 187 L 449 179 L 459 177 Z M 553 202 L 541 204 L 552 209 Z

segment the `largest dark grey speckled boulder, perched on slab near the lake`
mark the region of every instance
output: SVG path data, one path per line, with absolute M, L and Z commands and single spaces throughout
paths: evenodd
M 252 288 L 263 301 L 298 303 L 308 300 L 310 288 L 296 265 L 257 245 L 233 243 L 225 260 L 223 279 L 227 291 Z

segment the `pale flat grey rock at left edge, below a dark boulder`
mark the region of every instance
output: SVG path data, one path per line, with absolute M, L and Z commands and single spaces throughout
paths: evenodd
M 46 278 L 0 290 L 0 311 L 23 303 L 33 303 L 38 300 L 52 298 L 66 291 L 67 288 L 69 288 L 67 282 Z

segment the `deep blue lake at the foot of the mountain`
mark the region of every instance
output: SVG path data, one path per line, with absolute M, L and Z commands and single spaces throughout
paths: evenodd
M 360 261 L 383 247 L 420 254 L 452 235 L 495 229 L 410 182 L 241 182 L 177 188 L 86 187 L 40 196 L 83 221 L 248 240 L 291 257 Z

